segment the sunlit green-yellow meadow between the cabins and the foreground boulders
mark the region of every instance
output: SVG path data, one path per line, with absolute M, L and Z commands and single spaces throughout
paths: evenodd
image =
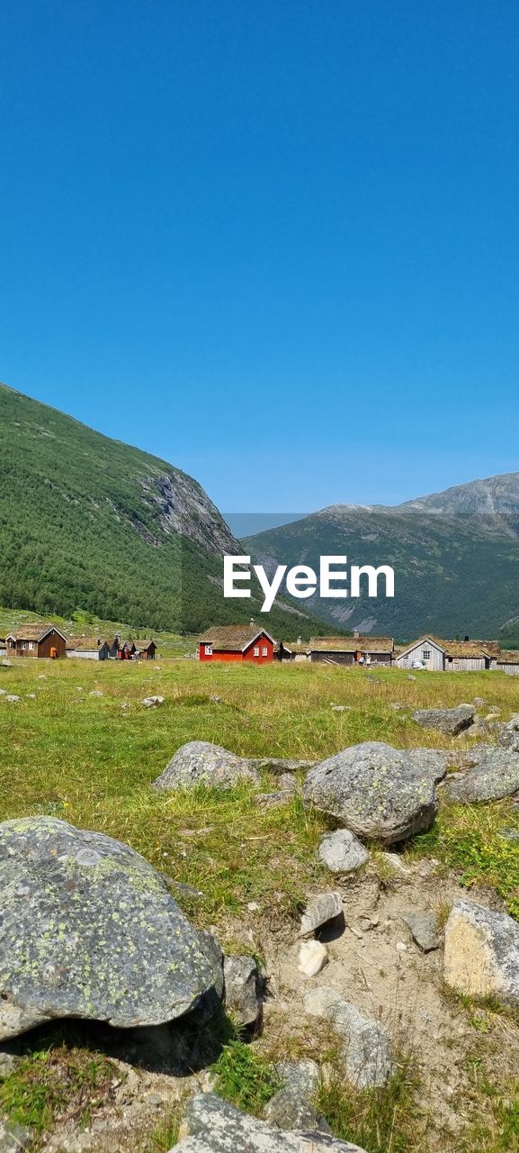
M 247 785 L 155 794 L 151 783 L 184 741 L 315 760 L 361 740 L 460 748 L 471 738 L 423 730 L 412 710 L 474 696 L 503 719 L 519 709 L 519 680 L 502 673 L 420 672 L 410 680 L 397 670 L 305 664 L 18 658 L 0 668 L 0 688 L 21 696 L 0 696 L 0 817 L 55 814 L 127 841 L 199 888 L 197 915 L 212 919 L 252 899 L 270 910 L 297 904 L 319 876 L 314 850 L 325 821 L 297 798 L 262 812 Z M 150 694 L 165 704 L 146 709 L 140 702 Z M 349 709 L 337 713 L 333 703 Z M 275 778 L 265 775 L 269 787 Z M 497 835 L 503 823 L 518 824 L 507 802 L 442 806 L 435 828 L 407 852 L 443 857 L 467 884 L 495 884 L 519 917 L 518 854 Z

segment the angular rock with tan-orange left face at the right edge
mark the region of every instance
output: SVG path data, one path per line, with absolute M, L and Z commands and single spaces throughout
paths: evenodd
M 474 900 L 457 900 L 445 925 L 445 984 L 470 996 L 519 1004 L 519 925 Z

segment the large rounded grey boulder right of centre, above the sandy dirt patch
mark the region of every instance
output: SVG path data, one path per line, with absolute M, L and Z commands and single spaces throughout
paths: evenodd
M 388 845 L 430 829 L 438 808 L 430 775 L 407 753 L 376 740 L 345 748 L 311 769 L 303 799 L 358 837 Z

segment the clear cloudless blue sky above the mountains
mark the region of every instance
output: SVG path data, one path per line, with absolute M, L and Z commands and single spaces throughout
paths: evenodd
M 224 511 L 519 469 L 517 0 L 3 0 L 0 377 Z

